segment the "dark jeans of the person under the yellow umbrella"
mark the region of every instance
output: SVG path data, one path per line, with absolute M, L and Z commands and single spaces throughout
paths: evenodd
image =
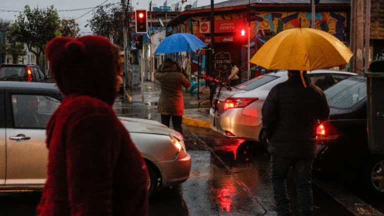
M 313 159 L 290 159 L 271 156 L 271 181 L 277 215 L 290 215 L 289 198 L 286 193 L 286 177 L 290 167 L 294 170 L 297 202 L 300 215 L 313 215 L 313 196 L 311 187 L 311 168 Z

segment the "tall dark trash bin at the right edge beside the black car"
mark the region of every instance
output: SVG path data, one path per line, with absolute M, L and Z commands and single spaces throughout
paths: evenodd
M 367 130 L 371 153 L 384 155 L 384 59 L 369 64 L 367 77 Z

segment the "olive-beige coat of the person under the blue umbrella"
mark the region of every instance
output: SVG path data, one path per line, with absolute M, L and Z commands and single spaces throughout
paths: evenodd
M 166 115 L 182 115 L 184 101 L 182 98 L 182 86 L 189 87 L 190 81 L 181 72 L 176 64 L 162 64 L 154 72 L 154 78 L 160 82 L 161 92 L 158 99 L 157 111 Z

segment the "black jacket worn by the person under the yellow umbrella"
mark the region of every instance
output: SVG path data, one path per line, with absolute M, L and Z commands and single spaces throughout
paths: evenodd
M 324 93 L 313 84 L 305 88 L 299 74 L 275 85 L 261 109 L 262 128 L 272 155 L 313 158 L 317 120 L 328 117 Z

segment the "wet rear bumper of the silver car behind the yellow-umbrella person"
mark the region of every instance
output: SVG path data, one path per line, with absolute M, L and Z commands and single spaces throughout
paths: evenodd
M 225 131 L 234 134 L 234 136 L 226 135 L 228 137 L 258 141 L 262 126 L 261 117 L 243 115 L 241 111 L 242 108 L 232 108 L 218 115 L 211 108 L 209 111 L 210 128 L 223 135 L 226 135 Z

